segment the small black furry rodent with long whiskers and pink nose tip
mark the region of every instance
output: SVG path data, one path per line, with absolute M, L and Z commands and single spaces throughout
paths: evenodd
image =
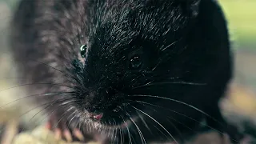
M 218 102 L 233 62 L 214 0 L 22 0 L 11 25 L 51 127 L 114 143 L 183 142 L 204 119 L 230 131 Z

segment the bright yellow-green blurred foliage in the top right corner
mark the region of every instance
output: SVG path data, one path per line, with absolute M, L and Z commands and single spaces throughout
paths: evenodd
M 256 52 L 256 0 L 219 0 L 238 49 Z

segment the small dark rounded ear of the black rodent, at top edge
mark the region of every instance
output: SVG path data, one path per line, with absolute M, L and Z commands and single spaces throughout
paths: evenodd
M 182 7 L 191 18 L 198 16 L 199 5 L 201 0 L 179 0 L 182 2 Z

